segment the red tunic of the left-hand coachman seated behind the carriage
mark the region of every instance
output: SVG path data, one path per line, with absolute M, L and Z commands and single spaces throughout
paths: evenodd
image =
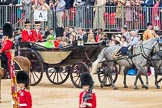
M 24 29 L 22 31 L 22 41 L 23 42 L 29 42 L 29 41 L 32 41 L 31 38 L 32 38 L 32 32 L 30 30 L 28 32 L 28 30 Z

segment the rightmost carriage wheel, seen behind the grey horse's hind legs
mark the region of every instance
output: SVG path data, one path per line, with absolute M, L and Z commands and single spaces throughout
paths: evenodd
M 104 80 L 104 86 L 109 87 L 112 84 L 111 84 L 110 76 L 107 73 L 107 69 L 108 69 L 108 66 L 106 65 L 106 63 L 102 63 L 102 65 L 97 69 L 97 74 L 98 74 L 99 82 L 103 83 L 103 80 Z M 112 79 L 114 83 L 116 82 L 117 78 L 118 78 L 118 69 L 116 65 L 114 65 L 113 71 L 112 71 Z

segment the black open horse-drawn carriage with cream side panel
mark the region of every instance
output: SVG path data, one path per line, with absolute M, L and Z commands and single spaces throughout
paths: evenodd
M 49 81 L 56 85 L 63 84 L 70 76 L 73 85 L 78 88 L 81 87 L 80 73 L 89 72 L 92 62 L 105 47 L 103 42 L 64 48 L 46 48 L 38 43 L 24 42 L 19 45 L 20 55 L 31 61 L 31 85 L 37 85 L 45 72 Z M 98 76 L 102 81 L 103 73 Z

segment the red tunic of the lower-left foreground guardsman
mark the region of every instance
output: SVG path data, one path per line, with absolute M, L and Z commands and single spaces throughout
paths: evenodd
M 19 108 L 32 108 L 32 97 L 27 89 L 18 91 Z

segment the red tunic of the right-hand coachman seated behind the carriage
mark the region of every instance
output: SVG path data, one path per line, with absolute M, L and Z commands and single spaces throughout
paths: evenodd
M 42 41 L 42 34 L 40 31 L 38 31 L 38 33 L 37 33 L 36 30 L 31 30 L 31 32 L 33 35 L 31 38 L 31 41 L 33 41 L 33 42 Z

